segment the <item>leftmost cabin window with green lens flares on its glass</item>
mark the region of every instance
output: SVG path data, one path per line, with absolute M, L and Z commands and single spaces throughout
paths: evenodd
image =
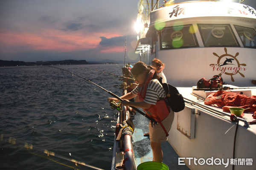
M 198 47 L 192 25 L 166 27 L 160 31 L 160 49 Z

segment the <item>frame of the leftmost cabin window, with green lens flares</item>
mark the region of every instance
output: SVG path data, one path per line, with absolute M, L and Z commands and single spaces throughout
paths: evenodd
M 193 34 L 191 34 L 192 35 L 192 38 L 193 38 L 193 42 L 194 42 L 194 44 L 195 45 L 189 45 L 189 46 L 180 46 L 180 47 L 178 47 L 178 48 L 175 48 L 175 47 L 173 47 L 173 46 L 170 46 L 170 47 L 166 47 L 166 48 L 163 48 L 163 44 L 162 44 L 162 32 L 163 32 L 163 30 L 165 30 L 165 29 L 174 29 L 174 28 L 177 28 L 177 27 L 188 27 L 188 28 L 192 28 L 192 32 L 193 32 Z M 199 47 L 199 44 L 198 44 L 198 40 L 197 40 L 197 37 L 196 37 L 196 34 L 195 34 L 195 28 L 194 28 L 194 26 L 193 26 L 193 24 L 186 24 L 186 25 L 179 25 L 179 26 L 169 26 L 169 27 L 165 27 L 165 28 L 163 28 L 163 29 L 161 29 L 160 31 L 159 31 L 159 39 L 160 39 L 160 50 L 169 50 L 169 49 L 180 49 L 180 48 L 197 48 L 197 47 Z M 180 31 L 180 30 L 179 30 Z M 187 31 L 187 30 L 186 30 Z M 188 31 L 189 31 L 189 29 L 188 29 Z M 175 31 L 172 31 L 172 33 L 174 33 Z M 184 34 L 182 31 L 180 31 L 182 34 Z M 171 34 L 172 34 L 171 33 Z M 176 38 L 176 37 L 175 37 Z

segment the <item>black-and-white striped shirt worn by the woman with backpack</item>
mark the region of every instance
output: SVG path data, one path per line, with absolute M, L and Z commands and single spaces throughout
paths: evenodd
M 131 91 L 131 93 L 138 95 L 140 88 L 140 86 L 137 86 L 133 91 Z M 144 102 L 149 103 L 151 105 L 155 105 L 158 99 L 165 97 L 166 93 L 161 83 L 157 79 L 151 79 L 147 85 L 147 91 Z

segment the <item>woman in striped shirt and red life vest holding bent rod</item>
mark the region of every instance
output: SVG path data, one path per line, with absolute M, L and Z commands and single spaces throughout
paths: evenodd
M 131 69 L 135 80 L 139 85 L 130 93 L 121 96 L 122 104 L 143 108 L 146 115 L 153 118 L 157 123 L 149 122 L 148 129 L 150 134 L 150 144 L 153 153 L 153 161 L 162 162 L 163 151 L 161 143 L 167 141 L 168 132 L 172 127 L 174 112 L 166 105 L 164 98 L 166 93 L 160 84 L 160 77 L 157 75 L 153 66 L 146 65 L 144 62 L 137 62 Z M 130 102 L 128 99 L 138 96 L 138 102 Z M 118 102 L 113 97 L 108 98 L 108 102 Z

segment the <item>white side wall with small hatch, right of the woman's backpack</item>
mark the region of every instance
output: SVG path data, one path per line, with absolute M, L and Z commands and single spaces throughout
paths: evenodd
M 197 100 L 195 96 L 191 98 Z M 192 112 L 197 114 L 189 112 L 186 108 L 192 108 Z M 175 113 L 168 138 L 168 142 L 180 157 L 180 165 L 186 163 L 192 170 L 232 169 L 237 122 L 231 122 L 228 116 L 220 116 L 191 105 L 186 105 L 186 108 Z M 186 116 L 187 119 L 178 119 L 179 115 Z M 185 130 L 187 134 L 180 131 L 184 124 L 190 125 L 189 129 Z M 184 132 L 184 129 L 182 130 Z M 255 132 L 255 125 L 244 127 L 244 123 L 239 121 L 234 160 L 236 170 L 256 169 L 256 164 L 252 162 L 256 159 L 256 150 L 253 147 L 256 141 Z M 194 136 L 191 138 L 190 134 Z

